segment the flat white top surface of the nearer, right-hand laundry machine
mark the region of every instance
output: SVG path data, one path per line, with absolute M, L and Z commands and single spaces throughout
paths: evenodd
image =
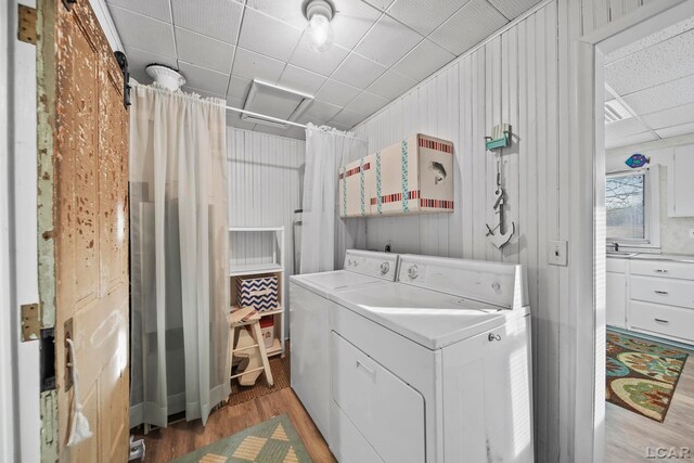
M 330 298 L 428 349 L 440 349 L 528 313 L 526 307 L 506 310 L 401 283 L 356 287 Z

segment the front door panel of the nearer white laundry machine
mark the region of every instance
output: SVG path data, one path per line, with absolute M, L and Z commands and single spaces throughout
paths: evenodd
M 384 461 L 424 462 L 422 395 L 337 333 L 331 336 L 333 407 L 339 408 Z M 338 432 L 331 427 L 333 430 Z M 333 442 L 364 445 L 342 436 L 335 436 Z M 348 453 L 343 451 L 346 449 L 335 450 L 336 454 Z M 370 453 L 365 448 L 363 452 Z

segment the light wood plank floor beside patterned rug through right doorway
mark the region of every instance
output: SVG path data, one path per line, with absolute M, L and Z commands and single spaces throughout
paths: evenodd
M 646 459 L 648 447 L 689 447 L 692 454 L 683 461 L 694 461 L 694 352 L 686 359 L 663 423 L 613 403 L 606 403 L 605 414 L 605 463 L 654 461 Z

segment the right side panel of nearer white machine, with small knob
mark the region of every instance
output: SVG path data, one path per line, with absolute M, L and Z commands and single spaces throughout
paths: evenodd
M 444 349 L 447 462 L 531 463 L 530 317 Z

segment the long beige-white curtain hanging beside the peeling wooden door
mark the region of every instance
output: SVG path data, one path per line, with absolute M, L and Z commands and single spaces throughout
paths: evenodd
M 204 424 L 230 393 L 224 102 L 131 95 L 130 425 Z

